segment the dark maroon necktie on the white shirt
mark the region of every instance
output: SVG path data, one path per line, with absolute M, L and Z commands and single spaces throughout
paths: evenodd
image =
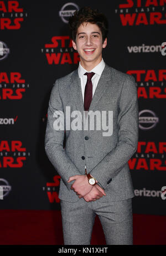
M 84 110 L 88 111 L 91 101 L 92 101 L 92 76 L 95 75 L 94 72 L 85 73 L 84 75 L 87 75 L 87 82 L 85 85 L 85 93 L 84 93 Z

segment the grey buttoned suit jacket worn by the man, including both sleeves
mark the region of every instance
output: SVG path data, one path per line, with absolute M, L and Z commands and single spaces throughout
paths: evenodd
M 64 113 L 65 126 L 66 106 L 70 106 L 71 112 L 80 111 L 80 116 L 84 116 L 78 70 L 56 80 L 49 100 L 45 151 L 61 176 L 59 198 L 69 202 L 79 200 L 76 193 L 70 190 L 73 181 L 67 181 L 71 176 L 84 175 L 85 164 L 87 172 L 96 178 L 106 192 L 106 196 L 99 199 L 100 202 L 134 197 L 128 167 L 128 160 L 136 152 L 138 144 L 138 98 L 133 76 L 106 65 L 98 81 L 89 113 L 106 111 L 108 118 L 108 111 L 113 111 L 111 136 L 103 136 L 104 130 L 98 130 L 97 125 L 94 130 L 90 127 L 85 130 L 83 126 L 82 130 L 55 130 L 57 117 L 54 112 L 59 110 L 59 113 Z

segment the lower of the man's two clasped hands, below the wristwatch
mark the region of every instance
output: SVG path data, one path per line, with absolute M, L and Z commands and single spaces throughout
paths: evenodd
M 92 188 L 92 190 L 84 196 L 84 200 L 86 202 L 96 201 L 100 199 L 102 196 L 106 196 L 105 191 L 98 186 L 97 184 Z M 81 198 L 81 196 L 79 196 Z

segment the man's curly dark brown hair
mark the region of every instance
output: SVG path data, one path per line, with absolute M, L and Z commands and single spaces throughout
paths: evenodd
M 90 7 L 83 7 L 74 12 L 69 18 L 69 27 L 71 32 L 71 39 L 76 40 L 77 29 L 84 22 L 90 22 L 98 25 L 102 33 L 102 43 L 107 38 L 108 33 L 108 21 L 104 14 L 99 13 L 97 9 L 91 9 Z

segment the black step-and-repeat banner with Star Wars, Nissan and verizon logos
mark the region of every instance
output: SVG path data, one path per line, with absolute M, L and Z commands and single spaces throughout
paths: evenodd
M 55 80 L 79 64 L 68 19 L 84 6 L 108 18 L 105 62 L 137 82 L 133 213 L 164 215 L 166 0 L 0 1 L 0 208 L 60 209 L 60 176 L 44 149 L 47 109 Z

